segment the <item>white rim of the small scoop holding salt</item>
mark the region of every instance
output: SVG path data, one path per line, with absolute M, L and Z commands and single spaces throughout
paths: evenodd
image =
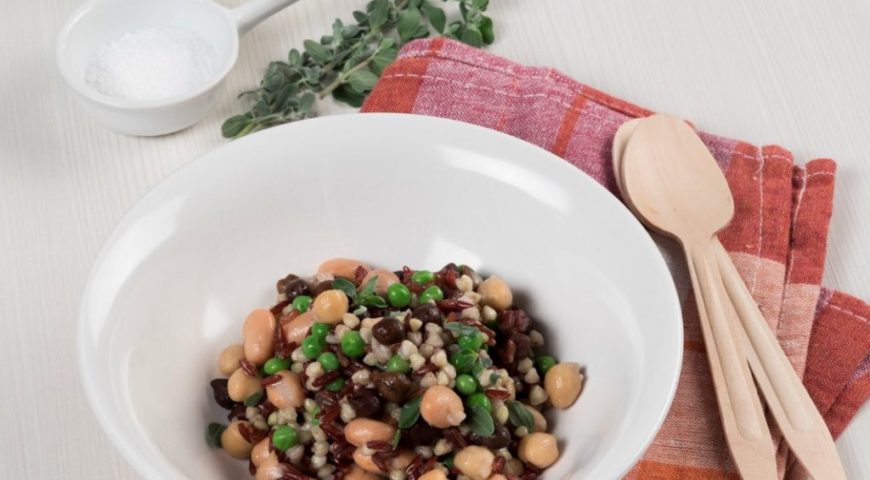
M 70 32 L 83 18 L 85 18 L 85 16 L 90 14 L 92 10 L 101 5 L 116 3 L 118 1 L 119 0 L 88 0 L 70 14 L 70 16 L 64 22 L 63 26 L 57 34 L 57 40 L 55 41 L 55 64 L 57 65 L 57 69 L 66 84 L 69 85 L 70 88 L 72 88 L 73 91 L 75 91 L 78 95 L 104 107 L 111 107 L 120 110 L 144 111 L 158 109 L 162 107 L 173 107 L 184 104 L 187 101 L 192 100 L 196 97 L 202 96 L 220 85 L 220 83 L 226 78 L 226 76 L 230 73 L 230 71 L 233 69 L 236 62 L 238 61 L 239 31 L 236 25 L 236 21 L 233 18 L 232 12 L 228 8 L 222 7 L 210 0 L 180 0 L 186 1 L 188 3 L 199 4 L 202 5 L 204 8 L 211 8 L 216 12 L 219 12 L 224 18 L 227 23 L 227 27 L 231 33 L 230 55 L 225 62 L 225 65 L 223 65 L 223 67 L 215 74 L 213 74 L 212 78 L 210 78 L 207 82 L 203 82 L 202 85 L 196 87 L 190 92 L 173 95 L 171 97 L 159 98 L 156 100 L 127 100 L 100 93 L 88 86 L 85 83 L 84 79 L 78 78 L 76 75 L 73 75 L 69 62 L 64 56 L 64 53 L 67 50 L 67 39 L 69 38 Z

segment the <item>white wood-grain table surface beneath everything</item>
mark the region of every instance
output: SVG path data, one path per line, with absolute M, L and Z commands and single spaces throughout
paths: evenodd
M 3 478 L 138 478 L 78 382 L 74 326 L 91 262 L 137 198 L 226 143 L 220 123 L 240 110 L 231 94 L 365 3 L 305 0 L 279 13 L 243 39 L 231 94 L 202 123 L 133 138 L 85 117 L 55 69 L 56 33 L 79 2 L 0 0 Z M 825 284 L 870 298 L 870 3 L 492 0 L 490 12 L 493 52 L 801 161 L 838 160 Z M 850 478 L 870 478 L 870 456 L 858 461 L 870 407 L 838 444 L 857 465 Z

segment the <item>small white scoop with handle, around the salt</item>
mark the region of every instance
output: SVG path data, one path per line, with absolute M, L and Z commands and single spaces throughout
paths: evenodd
M 239 54 L 239 36 L 295 2 L 249 0 L 228 9 L 211 0 L 90 0 L 60 31 L 58 69 L 81 107 L 107 127 L 130 135 L 172 133 L 201 120 L 220 98 L 224 78 Z M 194 70 L 200 77 L 189 89 L 157 99 L 113 96 L 87 81 L 95 52 L 110 42 L 129 40 L 131 34 L 135 42 L 142 32 L 190 32 L 193 41 L 206 44 L 191 51 L 200 55 L 207 48 L 210 68 Z

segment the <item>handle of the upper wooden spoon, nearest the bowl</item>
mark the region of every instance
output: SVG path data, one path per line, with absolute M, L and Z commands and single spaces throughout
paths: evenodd
M 723 302 L 724 286 L 709 240 L 683 245 L 725 437 L 744 479 L 776 478 L 776 457 L 761 400 Z M 730 305 L 729 305 L 730 308 Z

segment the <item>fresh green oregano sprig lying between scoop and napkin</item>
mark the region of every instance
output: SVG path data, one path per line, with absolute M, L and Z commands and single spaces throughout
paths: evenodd
M 442 0 L 442 3 L 448 0 Z M 459 19 L 447 23 L 436 0 L 372 0 L 365 12 L 353 12 L 356 23 L 332 24 L 332 34 L 319 42 L 305 40 L 286 61 L 269 64 L 260 86 L 243 92 L 252 101 L 248 112 L 221 126 L 226 138 L 315 116 L 317 100 L 332 96 L 359 107 L 372 91 L 399 48 L 432 32 L 475 47 L 494 40 L 492 19 L 484 15 L 489 0 L 451 0 L 459 4 Z

